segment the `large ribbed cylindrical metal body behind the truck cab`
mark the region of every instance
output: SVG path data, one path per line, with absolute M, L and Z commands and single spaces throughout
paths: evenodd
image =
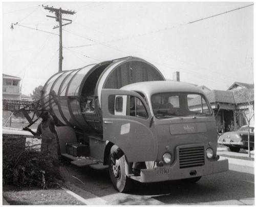
M 119 89 L 135 82 L 165 80 L 152 64 L 137 57 L 104 61 L 48 79 L 41 103 L 57 126 L 71 126 L 102 134 L 101 90 Z

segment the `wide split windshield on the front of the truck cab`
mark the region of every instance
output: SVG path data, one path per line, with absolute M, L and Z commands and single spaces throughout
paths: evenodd
M 193 93 L 157 93 L 151 96 L 152 108 L 157 118 L 179 116 L 211 116 L 205 97 Z

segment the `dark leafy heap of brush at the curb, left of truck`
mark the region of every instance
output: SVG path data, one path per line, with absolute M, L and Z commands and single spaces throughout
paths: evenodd
M 20 142 L 22 143 L 22 142 Z M 24 145 L 24 147 L 23 147 Z M 19 144 L 17 139 L 3 139 L 3 183 L 30 185 L 42 189 L 57 187 L 62 179 L 57 157 Z

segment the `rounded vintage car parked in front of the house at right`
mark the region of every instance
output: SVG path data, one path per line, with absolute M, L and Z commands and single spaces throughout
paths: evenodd
M 250 150 L 254 150 L 254 127 L 250 130 Z M 241 127 L 236 132 L 225 132 L 218 139 L 218 144 L 223 144 L 231 150 L 231 152 L 239 152 L 240 149 L 248 150 L 248 126 Z

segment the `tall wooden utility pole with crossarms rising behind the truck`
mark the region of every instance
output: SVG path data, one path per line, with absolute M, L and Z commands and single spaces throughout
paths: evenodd
M 59 26 L 55 26 L 55 27 L 53 27 L 53 29 L 59 28 L 59 71 L 62 71 L 62 59 L 63 59 L 63 56 L 62 56 L 62 26 L 69 25 L 72 23 L 72 20 L 62 18 L 62 14 L 72 14 L 73 15 L 73 14 L 75 14 L 75 12 L 69 11 L 69 10 L 62 10 L 61 8 L 56 9 L 56 8 L 48 7 L 48 6 L 44 6 L 44 5 L 42 5 L 42 7 L 49 10 L 49 12 L 52 12 L 52 13 L 54 12 L 55 16 L 49 16 L 49 15 L 46 15 L 46 16 L 55 18 L 56 22 L 59 22 Z M 69 21 L 69 23 L 62 25 L 62 20 L 67 20 L 67 21 Z

